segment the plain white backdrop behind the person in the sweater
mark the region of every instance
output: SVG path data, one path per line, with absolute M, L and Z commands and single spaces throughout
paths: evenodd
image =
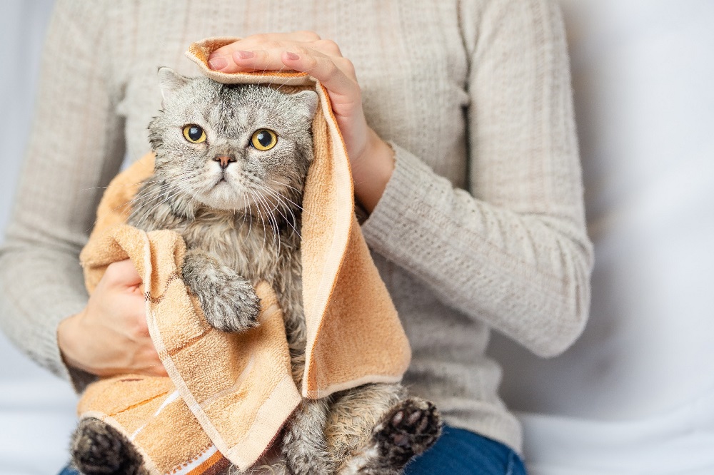
M 50 0 L 0 17 L 0 226 L 31 120 Z M 573 67 L 593 305 L 539 360 L 495 336 L 533 474 L 714 474 L 714 2 L 561 0 Z M 69 387 L 0 336 L 0 475 L 54 474 Z

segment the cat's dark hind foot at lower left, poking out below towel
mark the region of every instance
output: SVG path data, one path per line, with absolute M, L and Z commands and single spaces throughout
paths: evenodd
M 82 419 L 72 435 L 72 463 L 84 475 L 148 475 L 141 454 L 99 419 Z

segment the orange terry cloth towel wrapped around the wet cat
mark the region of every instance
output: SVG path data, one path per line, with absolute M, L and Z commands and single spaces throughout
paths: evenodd
M 153 155 L 136 162 L 107 188 L 81 262 L 89 292 L 111 262 L 134 262 L 144 279 L 149 332 L 169 378 L 102 379 L 87 388 L 78 411 L 126 434 L 157 475 L 211 473 L 226 459 L 246 469 L 265 453 L 301 397 L 397 382 L 411 357 L 354 214 L 348 157 L 325 88 L 305 73 L 211 71 L 208 54 L 235 40 L 204 40 L 187 55 L 215 81 L 313 88 L 320 101 L 301 229 L 306 368 L 297 388 L 281 310 L 265 282 L 256 286 L 256 329 L 226 334 L 206 324 L 180 278 L 186 252 L 181 237 L 124 224 L 139 183 L 153 173 Z

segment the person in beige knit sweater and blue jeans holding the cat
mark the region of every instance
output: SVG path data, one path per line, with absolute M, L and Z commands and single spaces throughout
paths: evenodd
M 59 0 L 48 35 L 0 255 L 3 327 L 32 359 L 77 390 L 165 374 L 133 267 L 110 265 L 88 300 L 78 255 L 102 187 L 150 150 L 156 68 L 195 76 L 188 44 L 241 36 L 211 67 L 307 71 L 328 89 L 362 232 L 412 345 L 405 383 L 447 424 L 406 473 L 525 473 L 489 334 L 563 352 L 592 267 L 556 4 Z

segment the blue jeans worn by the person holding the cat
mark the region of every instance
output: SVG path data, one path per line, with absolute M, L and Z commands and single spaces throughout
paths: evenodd
M 411 461 L 404 475 L 526 475 L 518 454 L 473 432 L 444 427 L 441 438 Z M 65 468 L 59 475 L 79 475 Z

